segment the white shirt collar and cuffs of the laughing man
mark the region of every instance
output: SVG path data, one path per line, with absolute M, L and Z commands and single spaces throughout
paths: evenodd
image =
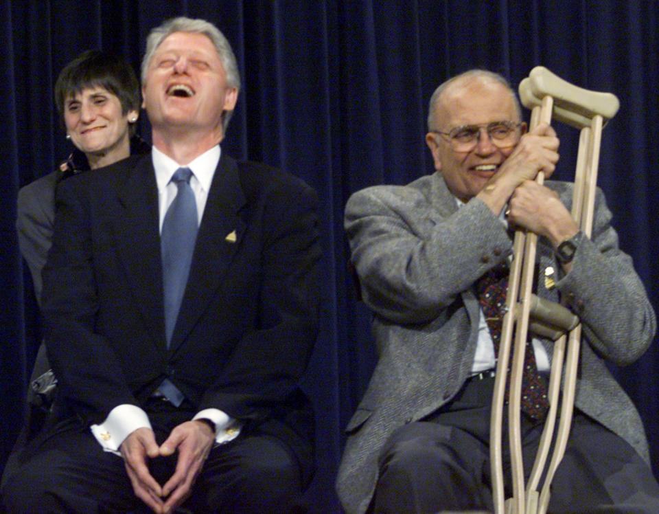
M 162 230 L 165 213 L 170 203 L 176 197 L 178 188 L 172 182 L 172 176 L 178 168 L 185 167 L 192 171 L 190 187 L 194 192 L 197 204 L 198 223 L 203 218 L 208 192 L 211 188 L 213 175 L 220 161 L 220 145 L 196 157 L 185 166 L 168 157 L 155 146 L 152 146 L 151 157 L 158 186 L 159 230 Z M 227 443 L 240 434 L 240 423 L 219 409 L 204 409 L 192 419 L 209 419 L 215 425 L 216 443 Z M 117 405 L 100 425 L 91 425 L 91 432 L 105 451 L 119 455 L 119 446 L 124 439 L 138 428 L 151 428 L 148 415 L 137 405 Z

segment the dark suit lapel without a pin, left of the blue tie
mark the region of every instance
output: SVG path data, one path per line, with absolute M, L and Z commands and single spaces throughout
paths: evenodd
M 113 217 L 117 255 L 126 269 L 136 311 L 154 343 L 164 348 L 162 265 L 158 231 L 158 188 L 151 154 L 141 155 L 124 168 L 126 178 L 117 191 L 119 208 Z

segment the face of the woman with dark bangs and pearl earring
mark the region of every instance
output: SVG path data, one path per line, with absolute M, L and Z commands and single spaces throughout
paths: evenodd
M 92 167 L 99 160 L 104 166 L 128 157 L 128 122 L 135 122 L 137 114 L 135 110 L 122 114 L 119 98 L 100 86 L 86 87 L 64 102 L 67 135 Z

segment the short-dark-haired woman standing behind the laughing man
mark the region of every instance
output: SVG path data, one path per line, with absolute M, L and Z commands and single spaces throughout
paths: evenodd
M 100 50 L 82 52 L 60 72 L 55 104 L 73 151 L 54 172 L 19 190 L 16 219 L 19 247 L 30 267 L 39 304 L 41 270 L 52 243 L 59 181 L 113 164 L 132 153 L 150 151 L 135 134 L 141 104 L 139 82 L 122 58 Z M 55 383 L 42 344 L 30 380 L 30 403 L 49 407 Z M 34 427 L 39 417 L 31 415 L 30 425 Z

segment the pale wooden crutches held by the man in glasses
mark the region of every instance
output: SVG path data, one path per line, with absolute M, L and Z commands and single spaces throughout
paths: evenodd
M 580 230 L 590 237 L 601 131 L 604 121 L 613 118 L 618 111 L 618 99 L 611 93 L 588 91 L 570 85 L 544 67 L 535 67 L 531 70 L 529 77 L 522 80 L 520 98 L 524 107 L 533 109 L 531 113 L 532 129 L 540 122 L 551 122 L 552 118 L 580 129 L 572 216 Z M 540 184 L 543 183 L 544 173 L 542 171 L 537 174 L 536 181 Z M 522 230 L 516 231 L 509 276 L 507 313 L 502 324 L 490 421 L 492 493 L 497 514 L 504 512 L 507 514 L 542 514 L 546 512 L 549 503 L 549 486 L 555 470 L 563 458 L 572 421 L 581 325 L 578 317 L 566 307 L 541 300 L 531 293 L 536 245 L 537 236 L 535 234 Z M 542 337 L 550 337 L 555 343 L 548 385 L 550 407 L 529 482 L 524 489 L 520 399 L 524 345 L 527 342 L 529 329 Z M 508 416 L 513 498 L 505 500 L 501 451 L 502 420 L 507 368 L 511 346 L 513 346 L 511 343 L 513 330 L 515 330 L 516 344 L 513 348 L 511 362 Z M 542 492 L 538 494 L 537 485 L 546 466 L 555 427 L 566 341 L 569 342 L 557 438 Z

